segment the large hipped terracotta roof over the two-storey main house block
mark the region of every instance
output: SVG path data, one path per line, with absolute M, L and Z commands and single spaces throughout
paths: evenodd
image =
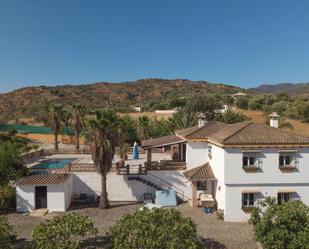
M 309 137 L 253 122 L 228 125 L 209 140 L 223 145 L 309 145 Z

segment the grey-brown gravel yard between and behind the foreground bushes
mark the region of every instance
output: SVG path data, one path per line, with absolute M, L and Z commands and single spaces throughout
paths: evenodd
M 141 204 L 113 204 L 107 210 L 97 208 L 83 208 L 78 211 L 89 216 L 95 221 L 99 231 L 99 240 L 103 239 L 109 226 L 123 215 L 134 212 Z M 258 248 L 253 241 L 252 226 L 247 223 L 229 223 L 218 220 L 216 215 L 204 214 L 201 209 L 193 209 L 188 204 L 176 207 L 184 216 L 191 217 L 198 227 L 198 236 L 205 244 L 205 248 L 211 249 L 254 249 Z M 15 226 L 20 241 L 31 239 L 33 227 L 41 220 L 49 219 L 57 214 L 48 214 L 44 217 L 22 216 L 20 214 L 8 214 L 10 224 Z

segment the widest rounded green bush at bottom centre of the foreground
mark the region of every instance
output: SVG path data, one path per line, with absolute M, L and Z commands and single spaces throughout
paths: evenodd
M 196 225 L 175 209 L 143 209 L 119 220 L 107 233 L 113 249 L 200 248 Z

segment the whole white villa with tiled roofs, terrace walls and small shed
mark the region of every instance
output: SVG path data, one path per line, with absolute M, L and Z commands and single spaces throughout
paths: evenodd
M 276 114 L 270 124 L 208 123 L 201 116 L 198 126 L 143 141 L 146 158 L 108 174 L 109 199 L 142 201 L 158 189 L 173 189 L 193 207 L 223 210 L 225 221 L 248 220 L 252 207 L 267 196 L 309 205 L 309 137 L 277 128 Z M 100 181 L 92 162 L 83 159 L 28 176 L 16 184 L 17 210 L 65 211 L 77 194 L 98 196 Z

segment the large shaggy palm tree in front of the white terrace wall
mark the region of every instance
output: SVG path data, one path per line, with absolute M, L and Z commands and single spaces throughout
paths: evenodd
M 95 112 L 95 118 L 89 119 L 85 127 L 86 143 L 90 146 L 92 160 L 101 175 L 100 208 L 108 208 L 106 175 L 112 167 L 115 147 L 120 145 L 119 118 L 111 110 Z

